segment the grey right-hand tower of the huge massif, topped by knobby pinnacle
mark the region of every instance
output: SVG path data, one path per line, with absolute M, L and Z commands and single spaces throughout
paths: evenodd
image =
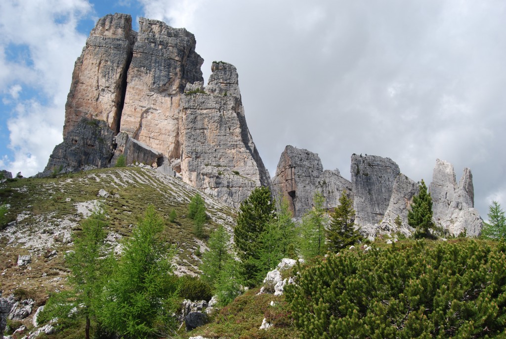
M 238 207 L 270 177 L 246 125 L 235 67 L 214 62 L 212 71 L 205 89 L 188 85 L 181 98 L 181 175 Z

